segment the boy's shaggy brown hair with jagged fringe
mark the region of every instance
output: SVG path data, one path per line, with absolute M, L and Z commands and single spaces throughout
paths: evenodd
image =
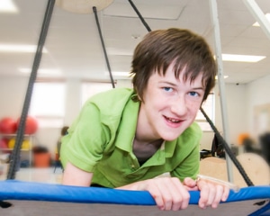
M 148 78 L 155 72 L 165 75 L 166 69 L 174 62 L 175 77 L 184 69 L 184 81 L 190 82 L 202 72 L 205 88 L 203 101 L 215 85 L 216 62 L 207 42 L 189 30 L 171 28 L 150 31 L 134 50 L 130 76 L 136 92 L 134 101 L 143 101 L 143 91 Z

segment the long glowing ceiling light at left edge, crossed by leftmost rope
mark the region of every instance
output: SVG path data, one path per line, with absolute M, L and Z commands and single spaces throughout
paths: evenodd
M 0 52 L 36 52 L 37 45 L 27 44 L 0 44 Z M 48 50 L 43 48 L 43 53 L 47 53 Z

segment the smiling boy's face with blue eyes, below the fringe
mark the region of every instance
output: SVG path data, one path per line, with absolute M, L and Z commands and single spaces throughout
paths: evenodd
M 175 78 L 171 64 L 166 75 L 153 73 L 144 91 L 139 110 L 137 135 L 144 139 L 176 139 L 194 121 L 200 109 L 204 88 L 202 74 L 192 83 Z

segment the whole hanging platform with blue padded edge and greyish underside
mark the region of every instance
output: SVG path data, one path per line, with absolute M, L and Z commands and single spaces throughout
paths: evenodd
M 231 191 L 227 202 L 217 209 L 201 210 L 199 192 L 190 192 L 190 206 L 184 215 L 270 215 L 270 186 L 250 186 Z M 0 181 L 0 200 L 10 208 L 2 215 L 179 215 L 179 211 L 159 211 L 148 192 L 109 188 L 77 187 L 15 180 Z M 107 211 L 105 211 L 107 209 Z M 24 211 L 24 212 L 23 212 Z M 100 212 L 101 211 L 101 212 Z M 21 212 L 21 214 L 18 214 Z

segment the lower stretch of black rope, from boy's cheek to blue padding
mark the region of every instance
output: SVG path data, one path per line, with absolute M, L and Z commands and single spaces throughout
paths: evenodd
M 248 186 L 253 186 L 254 184 L 251 182 L 249 177 L 247 176 L 247 173 L 245 172 L 243 166 L 239 163 L 238 159 L 235 157 L 231 149 L 229 148 L 228 143 L 225 141 L 225 139 L 222 138 L 220 135 L 219 130 L 214 126 L 212 123 L 211 119 L 207 116 L 207 114 L 203 111 L 202 107 L 200 108 L 202 114 L 204 115 L 205 119 L 209 122 L 211 129 L 214 131 L 217 139 L 219 140 L 220 144 L 225 148 L 225 151 L 229 155 L 229 158 L 232 160 L 235 166 L 237 166 L 239 173 L 243 176 L 245 182 L 247 183 Z

